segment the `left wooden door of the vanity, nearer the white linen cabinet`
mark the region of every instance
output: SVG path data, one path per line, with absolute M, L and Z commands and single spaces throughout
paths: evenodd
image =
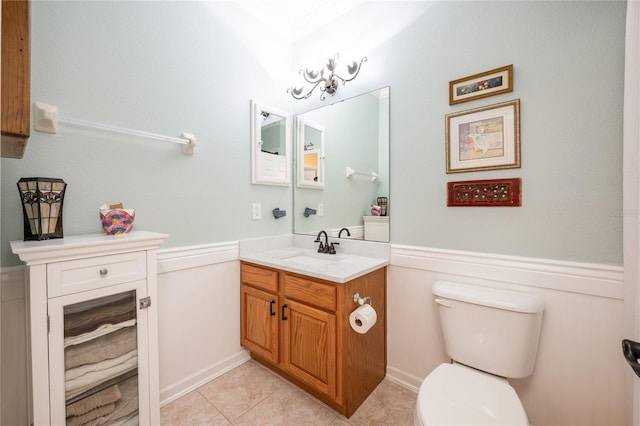
M 278 363 L 278 296 L 242 284 L 240 286 L 240 328 L 242 346 Z

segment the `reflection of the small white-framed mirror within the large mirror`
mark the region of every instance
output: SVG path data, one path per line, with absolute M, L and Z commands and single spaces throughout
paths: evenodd
M 298 186 L 324 188 L 324 128 L 303 119 L 298 120 Z

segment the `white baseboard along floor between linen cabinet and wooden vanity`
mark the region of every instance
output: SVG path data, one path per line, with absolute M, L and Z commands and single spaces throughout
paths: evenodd
M 181 396 L 188 394 L 216 377 L 220 377 L 224 373 L 244 364 L 249 361 L 249 359 L 251 359 L 249 353 L 245 350 L 241 350 L 220 362 L 210 365 L 207 368 L 172 384 L 169 387 L 160 389 L 160 405 L 162 406 L 170 403 L 171 401 L 175 401 Z

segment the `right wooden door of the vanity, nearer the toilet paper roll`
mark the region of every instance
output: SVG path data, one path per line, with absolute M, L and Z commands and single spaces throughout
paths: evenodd
M 335 398 L 336 316 L 289 299 L 284 306 L 284 369 Z

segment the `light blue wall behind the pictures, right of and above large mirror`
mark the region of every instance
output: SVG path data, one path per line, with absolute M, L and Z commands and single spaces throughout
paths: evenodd
M 368 61 L 342 95 L 391 87 L 392 243 L 620 265 L 625 10 L 371 2 L 296 44 L 294 66 L 309 52 L 360 52 Z M 512 93 L 449 105 L 449 81 L 508 64 Z M 447 175 L 445 115 L 512 99 L 522 167 Z M 522 207 L 446 207 L 449 181 L 511 177 L 522 178 Z

